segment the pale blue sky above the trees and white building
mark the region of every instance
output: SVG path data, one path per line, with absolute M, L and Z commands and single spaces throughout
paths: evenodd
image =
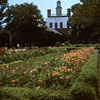
M 56 6 L 58 0 L 8 0 L 9 5 L 23 4 L 23 3 L 33 3 L 38 6 L 41 11 L 43 18 L 47 17 L 47 9 L 51 9 L 52 14 L 56 14 Z M 60 0 L 62 6 L 62 13 L 67 13 L 67 8 L 71 8 L 72 5 L 80 3 L 80 0 Z

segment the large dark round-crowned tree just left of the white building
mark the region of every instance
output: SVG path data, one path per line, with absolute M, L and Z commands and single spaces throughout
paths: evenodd
M 5 22 L 13 44 L 31 44 L 37 41 L 43 18 L 36 5 L 24 3 L 10 6 L 5 13 Z

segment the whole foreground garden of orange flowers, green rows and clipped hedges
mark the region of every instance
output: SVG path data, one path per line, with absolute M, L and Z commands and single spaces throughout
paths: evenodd
M 0 56 L 0 100 L 99 100 L 94 47 L 42 47 Z

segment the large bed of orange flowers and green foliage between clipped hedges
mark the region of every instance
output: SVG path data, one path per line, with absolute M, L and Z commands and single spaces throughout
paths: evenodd
M 2 65 L 0 67 L 2 75 L 0 85 L 25 86 L 29 88 L 38 86 L 41 88 L 50 88 L 53 85 L 61 85 L 69 88 L 71 79 L 80 70 L 81 66 L 86 63 L 93 50 L 92 47 L 89 47 L 87 49 L 72 51 L 69 54 L 57 52 L 55 53 L 55 58 L 54 54 L 48 55 L 47 59 L 51 58 L 48 61 L 36 58 L 36 60 L 29 59 L 29 62 L 25 61 L 25 64 L 20 64 L 20 67 L 14 64 L 6 65 L 6 67 Z M 29 67 L 27 68 L 27 66 Z

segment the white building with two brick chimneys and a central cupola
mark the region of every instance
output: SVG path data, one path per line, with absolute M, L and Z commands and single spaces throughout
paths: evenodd
M 47 10 L 46 26 L 52 29 L 67 29 L 70 9 L 65 15 L 62 14 L 61 1 L 57 1 L 56 14 L 51 14 L 51 9 Z

